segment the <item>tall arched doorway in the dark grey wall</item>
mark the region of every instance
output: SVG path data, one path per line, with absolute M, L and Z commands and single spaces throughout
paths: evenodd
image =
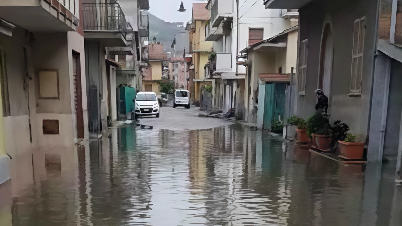
M 329 98 L 331 93 L 332 60 L 334 55 L 334 39 L 329 24 L 325 25 L 321 43 L 320 88 Z

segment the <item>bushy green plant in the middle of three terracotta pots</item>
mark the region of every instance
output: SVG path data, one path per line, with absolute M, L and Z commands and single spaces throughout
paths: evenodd
M 328 136 L 328 118 L 326 115 L 316 113 L 307 120 L 307 135 L 311 138 L 313 147 L 328 151 L 330 137 Z

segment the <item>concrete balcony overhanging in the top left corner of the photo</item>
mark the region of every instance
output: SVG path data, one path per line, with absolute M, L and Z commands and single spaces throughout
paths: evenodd
M 77 31 L 78 0 L 0 0 L 0 17 L 33 32 Z

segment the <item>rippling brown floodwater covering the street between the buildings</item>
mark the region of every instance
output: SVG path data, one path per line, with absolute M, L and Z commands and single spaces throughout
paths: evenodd
M 239 124 L 124 127 L 70 153 L 0 187 L 1 226 L 402 225 L 393 161 L 342 165 Z

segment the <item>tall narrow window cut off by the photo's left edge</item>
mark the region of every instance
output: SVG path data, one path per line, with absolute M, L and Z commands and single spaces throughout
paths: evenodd
M 6 67 L 6 53 L 4 49 L 0 47 L 0 82 L 1 82 L 1 96 L 3 117 L 10 116 L 10 99 L 8 97 L 8 79 L 7 79 L 7 67 Z

